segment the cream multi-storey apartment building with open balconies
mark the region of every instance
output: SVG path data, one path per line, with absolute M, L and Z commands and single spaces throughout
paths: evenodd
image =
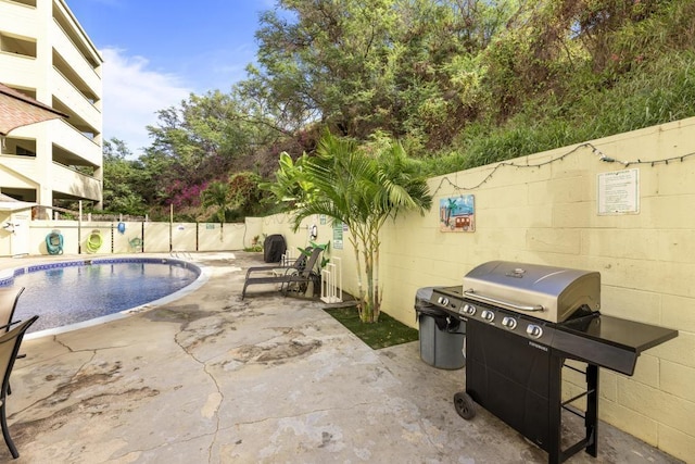
M 2 140 L 0 193 L 48 206 L 35 215 L 101 206 L 102 63 L 65 0 L 0 0 L 0 83 L 68 115 Z

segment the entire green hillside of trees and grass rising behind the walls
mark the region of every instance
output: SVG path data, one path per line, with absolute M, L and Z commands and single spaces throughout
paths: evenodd
M 694 0 L 279 0 L 256 38 L 248 78 L 162 110 L 146 154 L 105 143 L 105 209 L 273 212 L 258 181 L 326 129 L 437 175 L 695 115 Z

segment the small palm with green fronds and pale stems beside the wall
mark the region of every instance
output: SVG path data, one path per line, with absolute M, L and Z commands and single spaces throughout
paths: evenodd
M 382 300 L 379 231 L 389 218 L 405 211 L 425 214 L 432 204 L 419 163 L 406 155 L 401 143 L 381 135 L 358 146 L 326 133 L 316 156 L 304 154 L 296 164 L 286 159 L 276 176 L 271 191 L 279 201 L 293 202 L 295 229 L 314 214 L 348 225 L 357 262 L 359 317 L 377 322 Z

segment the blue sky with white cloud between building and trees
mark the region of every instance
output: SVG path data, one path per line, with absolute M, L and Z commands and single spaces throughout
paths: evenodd
M 66 0 L 104 60 L 103 139 L 118 138 L 135 156 L 151 139 L 156 112 L 193 92 L 245 77 L 254 33 L 274 0 Z

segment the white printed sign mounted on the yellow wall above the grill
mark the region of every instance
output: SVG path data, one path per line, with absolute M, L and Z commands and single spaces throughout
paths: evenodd
M 598 174 L 598 215 L 640 213 L 640 170 Z

